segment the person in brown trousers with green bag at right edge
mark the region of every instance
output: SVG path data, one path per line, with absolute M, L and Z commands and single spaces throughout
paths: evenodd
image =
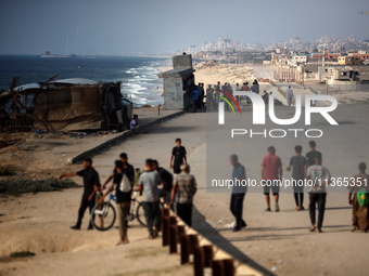
M 365 172 L 367 170 L 367 165 L 365 162 L 359 163 L 359 173 L 354 176 L 352 186 L 348 193 L 348 203 L 353 206 L 353 229 L 355 232 L 360 229 L 361 232 L 368 232 L 369 229 L 369 211 L 368 205 L 360 205 L 358 201 L 357 193 L 360 188 L 365 188 L 368 193 L 368 187 L 366 185 L 369 182 L 369 175 Z M 368 194 L 366 195 L 368 196 Z

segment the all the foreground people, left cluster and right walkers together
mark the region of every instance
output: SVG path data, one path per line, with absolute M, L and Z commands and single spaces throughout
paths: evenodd
M 322 232 L 322 223 L 326 210 L 327 190 L 332 178 L 329 170 L 322 166 L 322 155 L 316 150 L 315 141 L 309 142 L 310 152 L 306 157 L 302 155 L 303 147 L 296 145 L 294 147 L 295 155 L 291 157 L 288 171 L 292 170 L 293 193 L 295 199 L 295 210 L 304 210 L 304 186 L 306 181 L 314 183 L 309 186 L 309 218 L 311 226 L 310 232 Z M 264 195 L 267 203 L 265 211 L 270 212 L 270 193 L 275 199 L 275 210 L 280 211 L 279 193 L 280 181 L 283 178 L 282 161 L 276 155 L 276 148 L 269 146 L 268 155 L 262 160 L 260 175 L 262 180 L 271 185 L 264 185 Z M 246 170 L 239 162 L 237 155 L 230 156 L 230 163 L 233 167 L 232 179 L 246 180 Z M 142 194 L 142 206 L 148 224 L 149 238 L 157 237 L 160 225 L 160 199 L 163 199 L 169 208 L 174 210 L 176 202 L 176 212 L 182 221 L 189 226 L 192 225 L 192 206 L 193 197 L 196 193 L 198 185 L 194 175 L 190 174 L 190 166 L 187 162 L 187 152 L 181 145 L 181 140 L 176 140 L 176 146 L 171 150 L 169 167 L 173 173 L 160 167 L 157 160 L 147 159 L 144 170 L 141 173 L 139 169 L 135 170 L 128 162 L 126 153 L 120 154 L 119 159 L 114 162 L 114 170 L 101 185 L 99 173 L 92 167 L 92 160 L 86 158 L 82 162 L 84 169 L 77 172 L 61 174 L 58 179 L 81 176 L 84 180 L 84 194 L 78 210 L 77 223 L 71 226 L 72 229 L 80 229 L 84 214 L 89 208 L 103 203 L 104 198 L 115 189 L 116 208 L 118 218 L 118 228 L 120 240 L 117 245 L 128 244 L 127 227 L 128 214 L 130 213 L 131 193 L 137 185 L 138 190 Z M 367 182 L 369 175 L 366 174 L 367 166 L 364 162 L 359 163 L 359 173 L 351 179 L 352 183 L 348 186 L 348 203 L 353 206 L 353 232 L 369 229 L 369 194 Z M 103 193 L 106 185 L 113 180 L 109 189 Z M 125 182 L 129 183 L 129 188 L 123 188 Z M 136 183 L 135 183 L 136 182 Z M 276 184 L 277 183 L 277 184 Z M 365 184 L 365 185 L 364 185 Z M 160 189 L 160 186 L 162 188 Z M 364 188 L 364 189 L 362 189 Z M 231 192 L 230 211 L 236 219 L 233 232 L 241 231 L 247 224 L 242 218 L 243 201 L 247 186 L 234 185 Z M 318 209 L 318 219 L 316 219 L 316 209 Z M 91 222 L 87 229 L 92 229 Z

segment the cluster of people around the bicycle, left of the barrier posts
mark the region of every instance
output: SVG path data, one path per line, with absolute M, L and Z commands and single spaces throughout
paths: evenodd
M 119 242 L 128 244 L 128 214 L 130 213 L 131 194 L 135 185 L 142 195 L 142 206 L 148 224 L 149 238 L 157 237 L 160 226 L 160 198 L 174 209 L 176 203 L 177 215 L 189 226 L 192 225 L 192 203 L 198 185 L 194 175 L 190 174 L 190 166 L 187 163 L 187 152 L 181 145 L 181 140 L 176 140 L 176 146 L 171 150 L 170 169 L 173 174 L 160 167 L 157 160 L 147 159 L 144 170 L 141 173 L 128 162 L 128 155 L 122 153 L 119 159 L 114 161 L 113 172 L 101 185 L 98 171 L 92 167 L 92 159 L 85 158 L 84 169 L 58 175 L 58 179 L 81 176 L 84 180 L 84 193 L 78 210 L 77 223 L 72 229 L 80 229 L 86 210 L 91 213 L 96 205 L 101 206 L 104 198 L 113 190 L 116 195 L 117 221 L 119 228 Z M 106 185 L 113 181 L 109 189 L 103 193 Z M 137 183 L 135 183 L 137 181 Z M 162 186 L 162 188 L 160 188 Z M 88 231 L 93 229 L 91 221 Z

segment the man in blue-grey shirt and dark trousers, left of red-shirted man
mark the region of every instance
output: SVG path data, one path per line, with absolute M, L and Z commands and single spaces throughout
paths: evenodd
M 233 166 L 232 172 L 232 180 L 239 181 L 240 183 L 243 180 L 246 180 L 246 170 L 245 168 L 239 162 L 239 158 L 237 155 L 231 155 L 229 158 L 230 163 Z M 241 228 L 246 227 L 247 224 L 242 219 L 242 211 L 243 211 L 243 199 L 247 192 L 247 186 L 242 185 L 233 185 L 232 187 L 232 195 L 230 201 L 230 210 L 236 219 L 236 225 L 233 232 L 241 231 Z

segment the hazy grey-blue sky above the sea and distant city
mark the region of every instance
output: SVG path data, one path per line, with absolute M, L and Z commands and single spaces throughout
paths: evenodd
M 365 40 L 369 14 L 360 11 L 368 0 L 1 0 L 0 54 L 168 53 L 225 36 Z

